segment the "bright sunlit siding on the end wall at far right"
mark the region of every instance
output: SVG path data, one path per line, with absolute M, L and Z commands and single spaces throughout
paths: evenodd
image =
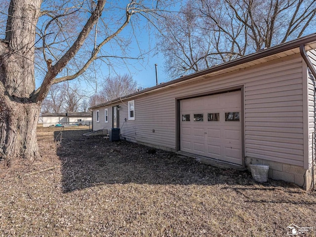
M 311 50 L 308 52 L 308 56 L 316 69 L 316 50 Z M 306 74 L 308 75 L 308 113 L 309 113 L 309 161 L 308 164 L 311 165 L 313 157 L 315 158 L 315 127 L 316 127 L 316 81 L 313 75 L 305 68 Z M 314 141 L 313 141 L 314 138 Z M 314 148 L 314 151 L 313 151 Z

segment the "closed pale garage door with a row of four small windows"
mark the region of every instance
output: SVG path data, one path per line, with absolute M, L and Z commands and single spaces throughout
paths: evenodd
M 180 101 L 180 150 L 242 164 L 241 92 Z

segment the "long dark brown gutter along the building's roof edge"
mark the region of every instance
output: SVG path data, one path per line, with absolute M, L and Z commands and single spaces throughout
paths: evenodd
M 213 73 L 213 72 L 217 72 L 217 71 L 220 71 L 220 70 L 224 70 L 224 69 L 227 69 L 227 68 L 230 68 L 230 67 L 234 67 L 234 66 L 237 66 L 237 65 L 240 65 L 240 64 L 243 64 L 243 63 L 248 63 L 248 62 L 251 62 L 251 61 L 254 61 L 254 60 L 258 60 L 260 58 L 268 57 L 268 56 L 271 56 L 271 55 L 274 55 L 274 54 L 277 54 L 277 53 L 280 53 L 280 52 L 284 52 L 284 51 L 287 51 L 287 50 L 298 48 L 301 45 L 305 45 L 305 44 L 308 44 L 308 43 L 311 43 L 311 42 L 315 42 L 315 41 L 316 41 L 316 33 L 311 34 L 311 35 L 306 36 L 306 37 L 303 37 L 303 38 L 300 38 L 300 39 L 292 40 L 292 41 L 289 41 L 289 42 L 286 42 L 286 43 L 283 43 L 281 45 L 277 45 L 277 46 L 274 46 L 274 47 L 271 47 L 271 48 L 268 48 L 268 49 L 260 50 L 258 52 L 253 53 L 253 54 L 250 54 L 250 55 L 247 55 L 247 56 L 243 56 L 243 57 L 238 58 L 236 60 L 229 61 L 229 62 L 226 62 L 226 63 L 222 63 L 222 64 L 217 65 L 217 66 L 213 66 L 211 68 L 199 71 L 197 73 L 190 74 L 188 76 L 183 76 L 183 77 L 178 78 L 178 79 L 174 79 L 174 80 L 171 80 L 171 81 L 168 81 L 168 82 L 164 82 L 164 83 L 158 84 L 156 86 L 150 87 L 148 89 L 141 90 L 141 91 L 136 92 L 134 94 L 123 96 L 123 97 L 120 97 L 120 98 L 117 98 L 117 99 L 114 99 L 114 100 L 111 100 L 111 101 L 108 101 L 106 103 L 102 103 L 102 104 L 99 104 L 99 105 L 95 105 L 93 107 L 90 107 L 89 110 L 102 108 L 102 107 L 104 107 L 106 105 L 118 103 L 118 102 L 120 102 L 121 100 L 124 100 L 124 99 L 129 99 L 129 98 L 133 98 L 133 97 L 136 97 L 136 96 L 139 96 L 139 95 L 142 95 L 142 94 L 146 94 L 146 93 L 149 93 L 149 92 L 160 90 L 162 88 L 169 87 L 171 85 L 175 85 L 175 84 L 181 83 L 183 81 L 187 81 L 187 80 L 190 80 L 190 79 L 201 77 L 201 76 L 204 76 L 204 75 L 207 75 L 207 74 L 210 74 L 210 73 Z

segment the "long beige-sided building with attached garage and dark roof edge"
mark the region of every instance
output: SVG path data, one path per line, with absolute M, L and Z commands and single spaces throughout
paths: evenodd
M 316 177 L 316 34 L 89 108 L 93 130 L 247 167 L 309 189 Z

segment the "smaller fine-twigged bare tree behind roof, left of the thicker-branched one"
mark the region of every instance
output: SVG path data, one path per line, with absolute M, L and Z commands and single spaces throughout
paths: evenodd
M 208 35 L 203 35 L 198 25 L 201 23 L 198 6 L 194 1 L 187 3 L 179 12 L 166 13 L 166 21 L 161 22 L 163 35 L 158 45 L 166 58 L 166 72 L 171 78 L 186 72 L 197 72 L 208 67 L 210 47 L 205 44 Z

